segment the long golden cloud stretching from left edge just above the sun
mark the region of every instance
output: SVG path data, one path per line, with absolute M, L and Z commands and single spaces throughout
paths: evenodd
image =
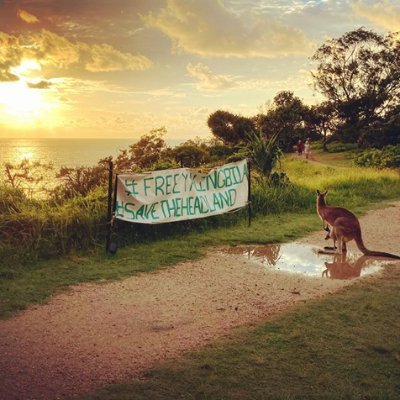
M 145 56 L 124 53 L 108 44 L 71 42 L 45 29 L 19 36 L 0 32 L 0 81 L 6 80 L 6 72 L 10 73 L 10 68 L 24 59 L 36 60 L 43 66 L 63 69 L 73 66 L 90 72 L 143 71 L 153 65 Z

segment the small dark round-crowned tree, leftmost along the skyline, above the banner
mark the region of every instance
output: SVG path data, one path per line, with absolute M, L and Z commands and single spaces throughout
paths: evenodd
M 237 145 L 246 140 L 246 135 L 255 129 L 250 118 L 218 110 L 207 121 L 212 134 L 227 145 Z

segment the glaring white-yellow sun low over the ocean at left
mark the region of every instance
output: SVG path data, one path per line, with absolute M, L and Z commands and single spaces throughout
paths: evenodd
M 7 125 L 15 128 L 46 126 L 52 120 L 57 102 L 52 101 L 48 90 L 28 85 L 40 69 L 35 60 L 23 60 L 10 70 L 19 80 L 1 83 L 0 111 Z

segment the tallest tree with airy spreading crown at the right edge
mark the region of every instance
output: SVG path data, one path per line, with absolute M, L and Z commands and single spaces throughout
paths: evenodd
M 335 105 L 343 139 L 360 139 L 400 101 L 400 41 L 360 28 L 330 39 L 312 59 L 315 87 Z

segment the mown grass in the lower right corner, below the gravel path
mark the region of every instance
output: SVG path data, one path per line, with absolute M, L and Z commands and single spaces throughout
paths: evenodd
M 399 315 L 397 268 L 81 398 L 398 399 Z

